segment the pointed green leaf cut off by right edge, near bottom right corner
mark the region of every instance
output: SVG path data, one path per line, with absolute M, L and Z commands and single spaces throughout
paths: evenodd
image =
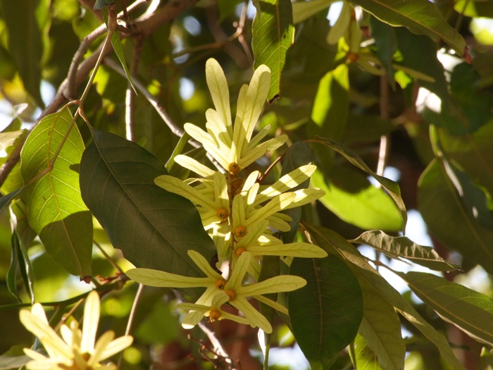
M 491 297 L 431 273 L 411 271 L 399 273 L 399 276 L 442 319 L 453 323 L 475 340 L 493 345 Z

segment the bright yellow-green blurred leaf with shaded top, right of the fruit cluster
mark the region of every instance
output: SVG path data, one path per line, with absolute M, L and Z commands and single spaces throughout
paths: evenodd
M 318 200 L 343 221 L 362 229 L 401 230 L 401 214 L 389 195 L 353 168 L 336 166 L 327 178 L 317 170 L 311 181 L 325 191 Z

